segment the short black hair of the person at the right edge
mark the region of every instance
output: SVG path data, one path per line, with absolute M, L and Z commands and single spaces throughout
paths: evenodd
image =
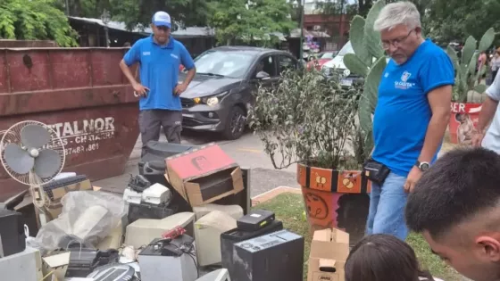
M 500 199 L 500 156 L 485 148 L 446 153 L 431 166 L 408 196 L 406 224 L 437 238 Z

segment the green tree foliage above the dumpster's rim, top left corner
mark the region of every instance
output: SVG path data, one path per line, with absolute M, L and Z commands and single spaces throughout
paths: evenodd
M 20 40 L 54 40 L 76 46 L 77 33 L 54 0 L 3 0 L 0 2 L 0 37 Z

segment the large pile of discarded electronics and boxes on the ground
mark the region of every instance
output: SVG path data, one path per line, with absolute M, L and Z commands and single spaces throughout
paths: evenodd
M 130 178 L 122 201 L 119 199 L 126 215 L 96 246 L 75 243 L 69 237 L 61 249 L 42 256 L 24 246 L 22 218 L 0 211 L 2 225 L 10 226 L 0 227 L 0 252 L 13 251 L 10 260 L 20 268 L 27 264 L 33 269 L 10 279 L 302 280 L 304 238 L 285 230 L 271 211 L 249 211 L 245 175 L 218 145 L 172 148 L 153 142 L 148 149 L 152 153 L 140 161 L 141 172 Z M 171 149 L 177 153 L 162 153 Z M 60 219 L 65 194 L 97 192 L 85 176 L 76 174 L 44 189 L 49 197 L 46 221 Z M 92 220 L 85 224 L 88 226 L 99 223 L 98 219 L 87 220 Z M 2 259 L 0 269 L 12 264 Z

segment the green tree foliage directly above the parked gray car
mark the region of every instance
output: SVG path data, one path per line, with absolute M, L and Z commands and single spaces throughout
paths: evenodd
M 296 27 L 286 0 L 219 0 L 209 3 L 208 25 L 217 29 L 220 43 L 231 44 L 238 37 L 249 43 L 269 42 L 273 32 L 288 33 Z

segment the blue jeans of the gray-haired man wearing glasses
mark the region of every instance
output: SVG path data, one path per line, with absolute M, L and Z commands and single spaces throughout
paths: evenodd
M 370 211 L 366 234 L 387 234 L 405 240 L 408 227 L 404 221 L 406 178 L 391 172 L 382 186 L 371 183 Z

